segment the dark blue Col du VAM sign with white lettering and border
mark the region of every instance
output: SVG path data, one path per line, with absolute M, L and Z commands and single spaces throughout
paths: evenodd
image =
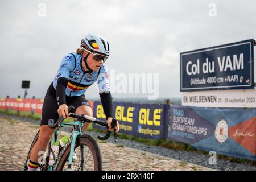
M 180 91 L 254 88 L 254 40 L 180 53 Z

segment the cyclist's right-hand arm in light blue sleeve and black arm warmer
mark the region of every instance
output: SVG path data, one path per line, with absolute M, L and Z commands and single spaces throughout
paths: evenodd
M 98 89 L 100 91 L 101 104 L 106 118 L 114 118 L 113 101 L 110 93 L 109 75 L 106 65 L 102 65 L 98 75 Z

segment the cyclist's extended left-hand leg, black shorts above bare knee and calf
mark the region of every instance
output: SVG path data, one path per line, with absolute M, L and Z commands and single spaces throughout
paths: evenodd
M 49 140 L 51 140 L 55 131 L 55 129 L 50 129 L 47 125 L 48 122 L 56 122 L 59 118 L 59 114 L 57 113 L 58 108 L 56 96 L 49 92 L 48 89 L 44 97 L 39 138 L 31 150 L 30 162 L 38 163 L 39 157 L 42 156 L 39 151 L 44 152 L 46 150 Z

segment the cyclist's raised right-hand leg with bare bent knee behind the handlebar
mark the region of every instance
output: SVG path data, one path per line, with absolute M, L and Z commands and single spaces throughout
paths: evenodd
M 67 99 L 69 105 L 73 105 L 76 110 L 76 114 L 85 114 L 89 116 L 93 116 L 92 107 L 90 103 L 84 96 L 77 96 L 77 97 L 69 97 Z M 90 123 L 85 123 L 82 127 L 82 132 L 88 129 Z

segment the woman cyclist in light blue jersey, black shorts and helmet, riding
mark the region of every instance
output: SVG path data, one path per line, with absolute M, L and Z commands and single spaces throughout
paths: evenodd
M 113 119 L 113 103 L 110 94 L 108 71 L 104 64 L 110 55 L 109 43 L 105 38 L 89 34 L 81 40 L 76 53 L 69 53 L 61 61 L 60 68 L 44 97 L 40 133 L 32 148 L 28 170 L 36 170 L 39 163 L 39 151 L 46 151 L 55 129 L 50 129 L 49 122 L 56 122 L 60 117 L 68 117 L 68 106 L 73 105 L 77 114 L 93 116 L 93 111 L 84 93 L 96 80 L 100 91 L 101 103 L 107 118 L 109 130 Z M 85 123 L 82 131 L 89 126 Z M 119 124 L 115 127 L 119 131 Z

